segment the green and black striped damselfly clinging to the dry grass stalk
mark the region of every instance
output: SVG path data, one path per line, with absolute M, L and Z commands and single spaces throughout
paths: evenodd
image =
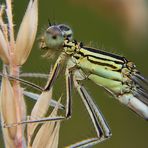
M 122 104 L 148 120 L 148 80 L 140 74 L 135 64 L 125 57 L 86 47 L 82 42 L 73 40 L 72 36 L 72 30 L 69 26 L 64 24 L 52 25 L 47 28 L 40 41 L 41 49 L 47 51 L 45 56 L 50 57 L 53 54 L 58 56 L 43 91 L 51 89 L 62 66 L 66 63 L 67 101 L 65 118 L 71 117 L 71 92 L 74 84 L 97 133 L 95 138 L 83 140 L 70 147 L 92 146 L 111 136 L 111 130 L 99 107 L 82 85 L 85 80 L 91 80 L 105 88 Z M 50 121 L 50 118 L 41 119 L 39 122 L 46 120 Z M 26 121 L 25 123 L 27 122 L 32 121 Z

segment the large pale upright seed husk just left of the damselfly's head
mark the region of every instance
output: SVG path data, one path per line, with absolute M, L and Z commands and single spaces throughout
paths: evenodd
M 38 0 L 30 0 L 16 39 L 15 64 L 27 60 L 33 46 L 38 25 Z

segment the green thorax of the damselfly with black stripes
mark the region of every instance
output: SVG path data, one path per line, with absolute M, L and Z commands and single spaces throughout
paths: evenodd
M 134 83 L 131 83 L 130 75 L 137 70 L 125 57 L 86 47 L 75 40 L 65 40 L 63 47 L 86 78 L 104 87 L 111 94 L 118 97 L 136 89 Z

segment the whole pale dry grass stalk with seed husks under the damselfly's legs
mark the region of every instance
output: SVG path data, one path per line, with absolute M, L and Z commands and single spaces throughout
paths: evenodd
M 0 58 L 3 61 L 2 85 L 0 91 L 0 112 L 2 121 L 3 138 L 6 148 L 47 147 L 57 148 L 59 139 L 60 122 L 46 122 L 36 133 L 39 123 L 28 124 L 27 137 L 24 136 L 25 127 L 20 123 L 27 120 L 26 106 L 23 97 L 23 89 L 19 81 L 10 83 L 7 75 L 19 78 L 20 67 L 27 61 L 31 52 L 38 26 L 38 0 L 30 0 L 18 34 L 14 36 L 14 23 L 11 0 L 6 0 L 6 7 L 0 7 Z M 3 20 L 7 17 L 7 23 Z M 52 98 L 52 90 L 41 93 L 36 102 L 29 120 L 44 118 L 47 114 Z M 59 101 L 60 102 L 60 101 Z M 56 116 L 58 105 L 50 116 Z M 4 128 L 4 125 L 9 128 Z M 11 126 L 15 125 L 15 126 Z M 42 139 L 46 133 L 46 138 Z M 32 135 L 34 135 L 32 137 Z M 27 140 L 26 140 L 27 139 Z M 33 141 L 31 143 L 31 141 Z M 26 145 L 27 143 L 27 145 Z

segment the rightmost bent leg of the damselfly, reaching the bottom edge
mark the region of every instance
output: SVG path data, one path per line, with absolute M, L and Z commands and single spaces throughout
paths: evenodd
M 90 97 L 90 95 L 88 94 L 86 89 L 83 86 L 81 86 L 79 84 L 78 80 L 76 80 L 75 78 L 74 78 L 74 85 L 75 85 L 79 95 L 81 96 L 81 99 L 82 99 L 82 101 L 89 113 L 89 116 L 93 122 L 93 125 L 94 125 L 96 133 L 97 133 L 97 137 L 80 141 L 76 144 L 70 145 L 69 147 L 75 148 L 75 147 L 93 146 L 97 143 L 100 143 L 100 142 L 110 138 L 111 130 L 110 130 L 109 126 L 107 125 L 107 122 L 104 119 L 99 108 L 95 105 L 95 103 L 93 102 L 92 98 Z

